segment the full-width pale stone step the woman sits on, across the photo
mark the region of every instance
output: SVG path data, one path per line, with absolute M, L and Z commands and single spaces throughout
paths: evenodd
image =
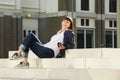
M 14 68 L 22 60 L 0 59 L 1 68 Z M 120 69 L 120 59 L 115 58 L 45 58 L 29 59 L 30 68 L 90 68 L 90 69 Z

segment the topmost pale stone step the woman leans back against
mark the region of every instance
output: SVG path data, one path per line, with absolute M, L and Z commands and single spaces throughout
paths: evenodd
M 120 58 L 120 48 L 68 49 L 66 58 Z

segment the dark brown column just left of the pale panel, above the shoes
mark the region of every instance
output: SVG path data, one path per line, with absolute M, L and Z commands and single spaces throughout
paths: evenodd
M 18 49 L 18 46 L 22 40 L 22 18 L 20 13 L 14 13 L 12 20 L 13 32 L 12 32 L 12 40 L 14 41 L 13 49 Z

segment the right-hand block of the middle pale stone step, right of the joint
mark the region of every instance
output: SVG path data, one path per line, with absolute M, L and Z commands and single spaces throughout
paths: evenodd
M 87 58 L 85 64 L 91 69 L 120 69 L 120 59 L 115 58 Z

